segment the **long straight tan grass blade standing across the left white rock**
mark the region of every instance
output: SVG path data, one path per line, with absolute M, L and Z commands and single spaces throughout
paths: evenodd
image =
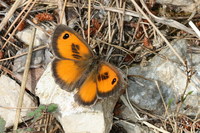
M 17 130 L 18 122 L 19 122 L 19 119 L 20 119 L 20 112 L 21 112 L 21 107 L 22 107 L 22 103 L 23 103 L 23 98 L 24 98 L 24 92 L 25 92 L 26 82 L 27 82 L 27 78 L 28 78 L 29 67 L 30 67 L 30 63 L 31 63 L 31 56 L 32 56 L 32 49 L 33 49 L 34 39 L 35 39 L 35 33 L 36 33 L 36 29 L 34 28 L 33 36 L 32 36 L 33 38 L 32 38 L 31 44 L 29 45 L 28 56 L 27 56 L 27 59 L 26 59 L 22 85 L 21 85 L 21 88 L 20 88 L 20 94 L 19 94 L 19 99 L 18 99 L 18 104 L 17 104 L 18 109 L 16 110 L 15 122 L 14 122 L 14 126 L 13 126 L 13 130 L 14 131 Z

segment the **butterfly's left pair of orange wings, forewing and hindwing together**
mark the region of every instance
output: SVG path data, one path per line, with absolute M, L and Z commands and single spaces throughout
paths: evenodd
M 67 91 L 79 87 L 94 56 L 89 45 L 74 30 L 59 25 L 53 34 L 52 48 L 56 56 L 52 63 L 56 83 Z

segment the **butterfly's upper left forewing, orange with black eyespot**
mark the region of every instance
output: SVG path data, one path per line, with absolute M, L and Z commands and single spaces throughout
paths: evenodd
M 54 54 L 60 59 L 82 61 L 93 57 L 93 52 L 87 42 L 65 25 L 59 25 L 55 29 L 52 47 Z

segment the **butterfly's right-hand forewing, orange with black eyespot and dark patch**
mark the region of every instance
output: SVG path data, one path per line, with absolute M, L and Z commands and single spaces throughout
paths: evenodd
M 117 68 L 107 62 L 101 62 L 96 82 L 97 95 L 103 98 L 112 95 L 121 88 L 122 78 Z

